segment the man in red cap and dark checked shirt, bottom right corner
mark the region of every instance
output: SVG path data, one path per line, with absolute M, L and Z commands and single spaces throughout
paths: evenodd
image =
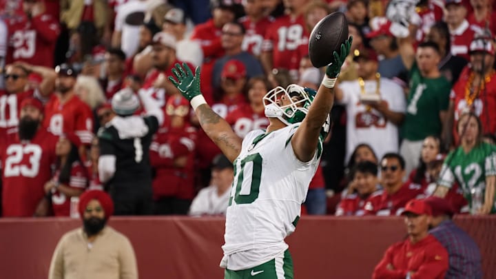
M 455 210 L 444 198 L 435 196 L 424 200 L 432 209 L 431 230 L 433 235 L 449 254 L 449 268 L 446 278 L 482 279 L 482 258 L 477 243 L 451 218 Z

